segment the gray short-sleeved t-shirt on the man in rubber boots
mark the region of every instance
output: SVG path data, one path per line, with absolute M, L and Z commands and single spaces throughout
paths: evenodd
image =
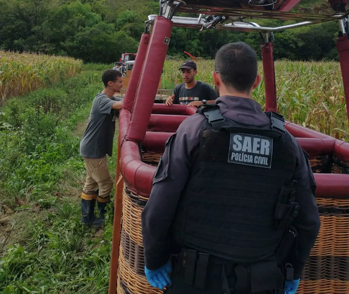
M 86 158 L 101 158 L 106 154 L 112 156 L 115 119 L 119 111 L 112 109 L 115 101 L 122 98 L 110 99 L 99 92 L 92 103 L 90 117 L 86 130 L 80 142 L 80 154 Z

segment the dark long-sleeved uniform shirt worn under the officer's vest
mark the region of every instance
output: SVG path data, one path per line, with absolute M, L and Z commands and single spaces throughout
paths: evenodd
M 252 126 L 266 125 L 270 120 L 262 111 L 260 104 L 253 99 L 221 96 L 216 100 L 223 117 Z M 176 212 L 181 191 L 188 180 L 190 167 L 198 156 L 203 121 L 202 114 L 194 114 L 186 118 L 179 126 L 177 135 L 171 144 L 166 145 L 163 163 L 154 177 L 150 198 L 142 212 L 142 235 L 145 264 L 148 269 L 158 269 L 164 265 L 170 255 L 168 246 L 168 231 Z M 307 160 L 296 138 L 294 150 L 296 152 L 296 171 L 294 180 L 297 181 L 297 191 L 303 197 L 297 197 L 300 205 L 298 218 L 294 227 L 298 231 L 298 260 L 294 261 L 295 278 L 299 278 L 309 257 L 320 228 L 320 218 L 311 191 L 313 175 L 307 166 Z M 304 191 L 304 192 L 306 192 Z M 298 193 L 300 194 L 300 193 Z M 304 197 L 304 195 L 309 195 Z

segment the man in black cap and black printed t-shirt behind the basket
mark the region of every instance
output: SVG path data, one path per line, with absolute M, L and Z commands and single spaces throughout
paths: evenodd
M 194 61 L 183 62 L 179 70 L 182 71 L 184 83 L 174 87 L 173 95 L 166 99 L 166 105 L 183 104 L 198 107 L 204 103 L 215 103 L 216 91 L 210 85 L 195 80 L 198 71 Z

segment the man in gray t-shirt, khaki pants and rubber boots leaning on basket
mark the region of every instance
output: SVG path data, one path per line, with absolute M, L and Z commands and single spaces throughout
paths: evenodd
M 80 154 L 87 171 L 81 193 L 81 221 L 97 227 L 104 222 L 105 206 L 110 202 L 110 192 L 113 188 L 106 154 L 112 156 L 115 120 L 123 100 L 114 97 L 115 92 L 120 92 L 122 88 L 120 71 L 107 69 L 102 75 L 102 81 L 104 90 L 93 100 L 87 127 L 80 142 Z M 96 199 L 99 218 L 94 213 Z

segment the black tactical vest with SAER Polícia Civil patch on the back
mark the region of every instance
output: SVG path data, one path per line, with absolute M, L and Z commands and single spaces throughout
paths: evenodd
M 249 127 L 223 119 L 219 106 L 206 115 L 199 155 L 181 195 L 172 238 L 181 247 L 251 263 L 272 257 L 298 214 L 291 181 L 296 158 L 283 117 Z

